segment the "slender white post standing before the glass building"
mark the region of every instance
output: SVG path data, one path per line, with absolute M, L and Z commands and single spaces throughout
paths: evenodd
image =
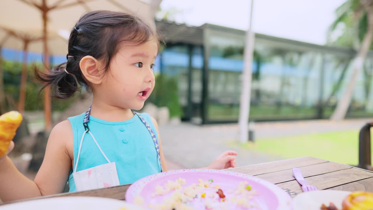
M 242 72 L 241 82 L 241 101 L 239 106 L 239 142 L 245 143 L 248 140 L 248 120 L 250 113 L 250 89 L 251 89 L 251 72 L 253 66 L 253 51 L 254 51 L 254 33 L 251 30 L 251 22 L 253 19 L 253 3 L 251 0 L 249 28 L 246 32 L 246 44 L 244 50 L 244 69 Z

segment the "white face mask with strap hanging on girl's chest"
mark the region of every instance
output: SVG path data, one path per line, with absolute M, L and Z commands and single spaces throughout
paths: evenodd
M 101 154 L 105 157 L 108 163 L 76 172 L 76 168 L 78 167 L 80 151 L 82 149 L 83 139 L 85 133 L 87 132 L 92 136 L 97 147 L 100 149 Z M 76 191 L 85 191 L 119 185 L 119 178 L 115 163 L 110 162 L 110 160 L 106 157 L 106 155 L 98 145 L 96 139 L 93 137 L 92 133 L 89 130 L 86 130 L 83 133 L 82 140 L 80 141 L 79 152 L 78 157 L 76 158 L 73 178 L 76 186 Z

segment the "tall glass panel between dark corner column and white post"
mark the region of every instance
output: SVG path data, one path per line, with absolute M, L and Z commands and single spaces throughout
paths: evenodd
M 209 37 L 209 121 L 238 119 L 244 36 L 214 31 Z

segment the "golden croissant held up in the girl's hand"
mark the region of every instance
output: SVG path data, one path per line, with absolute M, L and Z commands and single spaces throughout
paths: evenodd
M 0 116 L 0 157 L 6 155 L 10 141 L 22 122 L 22 115 L 17 111 L 10 111 Z

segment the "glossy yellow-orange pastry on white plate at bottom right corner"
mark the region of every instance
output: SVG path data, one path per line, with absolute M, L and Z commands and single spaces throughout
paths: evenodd
M 352 192 L 342 202 L 342 210 L 371 210 L 373 209 L 372 192 Z

